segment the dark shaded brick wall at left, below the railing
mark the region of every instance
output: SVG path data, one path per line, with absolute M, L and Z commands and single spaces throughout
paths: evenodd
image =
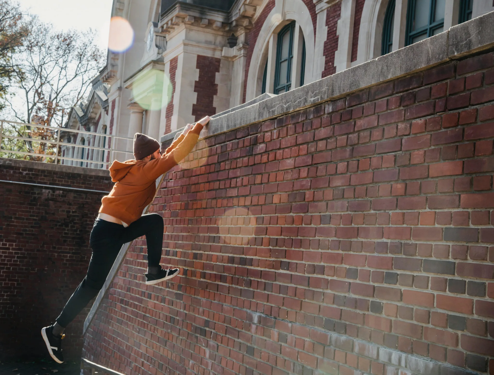
M 44 170 L 37 162 L 12 166 L 5 160 L 0 159 L 0 180 L 111 188 L 109 177 Z M 0 182 L 2 360 L 48 357 L 41 328 L 54 322 L 85 275 L 91 256 L 89 233 L 102 196 Z M 68 359 L 80 358 L 82 324 L 90 306 L 66 330 L 63 350 Z

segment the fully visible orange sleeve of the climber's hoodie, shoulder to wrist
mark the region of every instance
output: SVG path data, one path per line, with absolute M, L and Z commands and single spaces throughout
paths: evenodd
M 183 137 L 182 141 L 178 143 L 172 150 L 168 151 L 168 149 L 170 149 L 173 144 L 168 147 L 168 149 L 166 149 L 165 154 L 163 154 L 162 157 L 146 163 L 143 169 L 146 177 L 150 181 L 156 180 L 162 174 L 168 172 L 171 168 L 182 161 L 183 158 L 185 158 L 185 156 L 187 156 L 189 152 L 192 151 L 194 146 L 196 146 L 201 130 L 203 130 L 203 125 L 201 125 L 200 123 L 196 123 L 196 125 L 194 125 L 194 127 L 189 130 L 187 135 L 180 136 L 176 140 L 178 141 L 181 137 Z

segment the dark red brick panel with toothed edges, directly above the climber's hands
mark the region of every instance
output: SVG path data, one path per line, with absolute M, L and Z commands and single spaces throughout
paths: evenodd
M 212 116 L 216 113 L 213 107 L 214 96 L 218 94 L 216 73 L 219 73 L 220 59 L 197 55 L 196 69 L 199 69 L 199 79 L 194 84 L 194 92 L 197 92 L 196 103 L 192 105 L 192 115 L 199 121 L 204 116 Z

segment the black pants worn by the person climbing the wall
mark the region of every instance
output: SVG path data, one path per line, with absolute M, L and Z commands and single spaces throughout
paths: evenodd
M 87 274 L 67 301 L 62 313 L 56 319 L 57 323 L 67 327 L 98 294 L 124 243 L 145 235 L 148 263 L 150 266 L 159 266 L 163 247 L 163 229 L 163 218 L 158 214 L 143 215 L 126 228 L 124 225 L 96 219 L 89 239 L 92 255 Z

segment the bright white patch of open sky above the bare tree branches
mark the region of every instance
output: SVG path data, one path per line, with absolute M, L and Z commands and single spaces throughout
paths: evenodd
M 113 0 L 17 0 L 21 8 L 50 22 L 58 30 L 89 28 L 98 32 L 97 44 L 105 50 L 108 46 L 110 15 Z

